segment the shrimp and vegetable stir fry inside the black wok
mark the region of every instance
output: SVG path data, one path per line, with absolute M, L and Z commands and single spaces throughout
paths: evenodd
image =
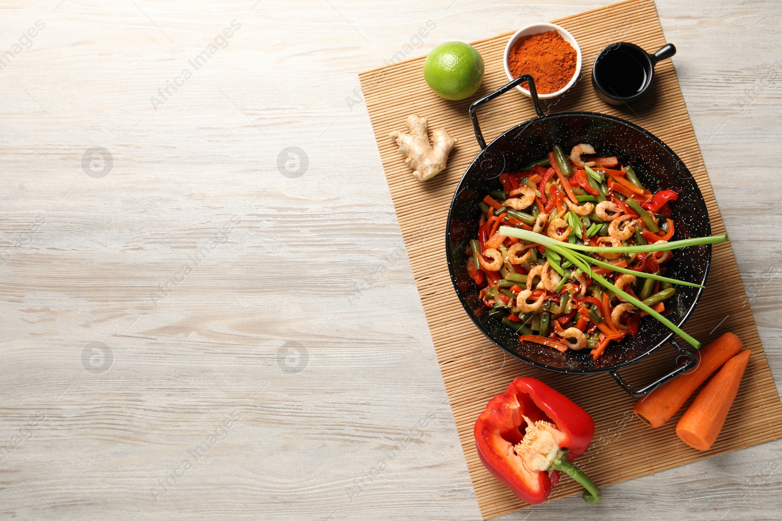
M 664 301 L 675 290 L 637 275 L 664 274 L 673 252 L 612 250 L 671 240 L 669 202 L 676 201 L 675 193 L 653 194 L 631 166 L 585 143 L 569 155 L 555 146 L 547 158 L 503 173 L 499 182 L 501 189 L 479 202 L 478 237 L 466 248 L 467 271 L 480 287 L 488 316 L 517 331 L 520 341 L 565 354 L 588 349 L 598 359 L 609 344 L 641 327 L 645 313 L 626 302 L 627 295 L 665 312 Z M 604 264 L 583 273 L 541 244 L 501 235 L 500 226 L 600 248 L 590 255 Z M 595 284 L 592 273 L 612 281 L 617 294 Z

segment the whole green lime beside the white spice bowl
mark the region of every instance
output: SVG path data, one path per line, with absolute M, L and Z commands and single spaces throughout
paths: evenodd
M 463 41 L 447 41 L 426 56 L 424 79 L 442 98 L 469 98 L 481 86 L 483 59 L 472 45 Z

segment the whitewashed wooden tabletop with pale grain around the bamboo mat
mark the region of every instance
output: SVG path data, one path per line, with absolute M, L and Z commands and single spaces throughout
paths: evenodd
M 356 74 L 601 2 L 253 2 L 0 5 L 2 518 L 479 518 Z M 782 5 L 658 11 L 780 375 Z M 506 519 L 780 519 L 780 448 Z

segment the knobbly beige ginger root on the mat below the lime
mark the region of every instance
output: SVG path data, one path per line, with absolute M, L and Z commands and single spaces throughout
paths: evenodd
M 458 140 L 450 137 L 445 129 L 438 128 L 432 131 L 433 142 L 429 143 L 426 118 L 412 114 L 407 116 L 405 123 L 409 134 L 394 131 L 389 137 L 396 140 L 400 154 L 406 157 L 404 162 L 414 170 L 416 179 L 432 179 L 445 169 L 450 149 L 454 148 Z

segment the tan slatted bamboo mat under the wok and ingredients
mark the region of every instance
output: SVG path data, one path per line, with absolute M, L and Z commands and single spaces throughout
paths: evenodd
M 673 148 L 694 174 L 706 201 L 712 233 L 724 233 L 723 220 L 672 62 L 667 60 L 658 64 L 655 84 L 644 98 L 631 107 L 613 108 L 604 104 L 594 95 L 590 84 L 592 62 L 606 45 L 632 41 L 653 52 L 665 44 L 654 3 L 650 0 L 628 0 L 555 20 L 555 23 L 569 30 L 579 42 L 583 53 L 582 77 L 559 100 L 542 101 L 545 112 L 604 112 L 630 120 L 655 134 Z M 484 518 L 528 506 L 484 469 L 475 453 L 472 436 L 473 423 L 486 402 L 495 394 L 504 392 L 515 376 L 534 376 L 543 380 L 572 398 L 594 418 L 594 441 L 590 451 L 576 463 L 600 486 L 782 436 L 782 405 L 729 243 L 716 244 L 712 249 L 707 289 L 685 328 L 704 344 L 726 331 L 733 331 L 741 337 L 745 348 L 752 350 L 734 407 L 723 433 L 710 451 L 695 451 L 676 437 L 676 422 L 685 408 L 664 426 L 651 429 L 632 415 L 633 398 L 622 391 L 608 374 L 567 376 L 533 368 L 505 355 L 472 324 L 448 275 L 445 225 L 454 189 L 479 153 L 468 107 L 476 98 L 507 83 L 502 55 L 510 35 L 502 34 L 473 44 L 486 62 L 486 75 L 479 92 L 463 102 L 448 102 L 429 90 L 422 73 L 424 57 L 360 74 L 396 216 Z M 459 140 L 450 154 L 447 170 L 425 184 L 414 179 L 411 170 L 396 152 L 396 145 L 388 137 L 392 130 L 405 129 L 404 120 L 409 114 L 428 118 L 430 130 L 444 127 Z M 479 111 L 487 142 L 533 116 L 529 98 L 518 91 L 497 98 Z M 640 386 L 671 369 L 674 358 L 673 348 L 661 348 L 655 355 L 620 370 L 620 373 L 631 384 Z M 580 487 L 565 476 L 554 487 L 551 498 L 579 490 Z M 610 488 L 604 491 L 604 501 L 612 501 Z M 583 508 L 589 509 L 590 505 L 585 504 Z

